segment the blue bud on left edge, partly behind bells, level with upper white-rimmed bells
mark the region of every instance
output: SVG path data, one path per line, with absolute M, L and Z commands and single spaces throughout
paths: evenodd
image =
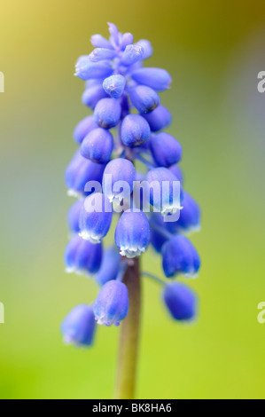
M 90 181 L 102 182 L 105 164 L 87 160 L 78 150 L 66 169 L 66 185 L 69 193 L 86 195 L 85 185 Z

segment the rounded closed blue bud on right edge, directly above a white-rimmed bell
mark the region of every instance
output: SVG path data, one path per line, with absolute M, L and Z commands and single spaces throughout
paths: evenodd
M 170 167 L 179 162 L 183 153 L 179 142 L 166 132 L 152 136 L 150 150 L 153 160 L 160 167 Z

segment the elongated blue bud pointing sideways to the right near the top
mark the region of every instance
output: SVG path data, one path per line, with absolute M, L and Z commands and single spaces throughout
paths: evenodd
M 172 81 L 168 71 L 162 68 L 139 68 L 131 77 L 136 83 L 147 85 L 157 91 L 167 90 Z

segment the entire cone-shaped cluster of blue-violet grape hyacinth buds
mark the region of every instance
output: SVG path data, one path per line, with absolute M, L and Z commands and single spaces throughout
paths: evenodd
M 126 319 L 129 292 L 123 278 L 149 246 L 170 279 L 160 282 L 172 318 L 188 321 L 197 313 L 197 296 L 173 280 L 199 272 L 199 255 L 184 235 L 199 229 L 200 210 L 183 191 L 182 146 L 164 131 L 171 114 L 159 92 L 169 88 L 171 77 L 164 69 L 144 67 L 151 43 L 134 43 L 133 35 L 121 34 L 112 23 L 109 32 L 109 39 L 91 37 L 95 49 L 75 67 L 85 82 L 82 103 L 92 114 L 74 130 L 79 148 L 66 169 L 68 193 L 77 201 L 67 217 L 71 240 L 65 263 L 66 271 L 92 277 L 100 287 L 94 303 L 75 307 L 63 322 L 65 341 L 77 346 L 92 344 L 96 322 L 119 326 Z M 113 246 L 104 248 L 114 216 Z

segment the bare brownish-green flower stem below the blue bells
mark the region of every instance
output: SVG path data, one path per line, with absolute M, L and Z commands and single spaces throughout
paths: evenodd
M 141 280 L 138 258 L 129 264 L 123 282 L 129 291 L 129 314 L 121 324 L 115 399 L 134 399 L 141 311 Z

